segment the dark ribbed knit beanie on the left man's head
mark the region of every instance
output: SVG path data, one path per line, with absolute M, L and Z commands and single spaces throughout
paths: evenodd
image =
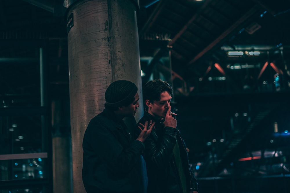
M 132 98 L 136 95 L 137 90 L 133 82 L 128 80 L 116 80 L 108 86 L 105 92 L 106 104 L 111 107 L 130 104 L 133 102 Z

